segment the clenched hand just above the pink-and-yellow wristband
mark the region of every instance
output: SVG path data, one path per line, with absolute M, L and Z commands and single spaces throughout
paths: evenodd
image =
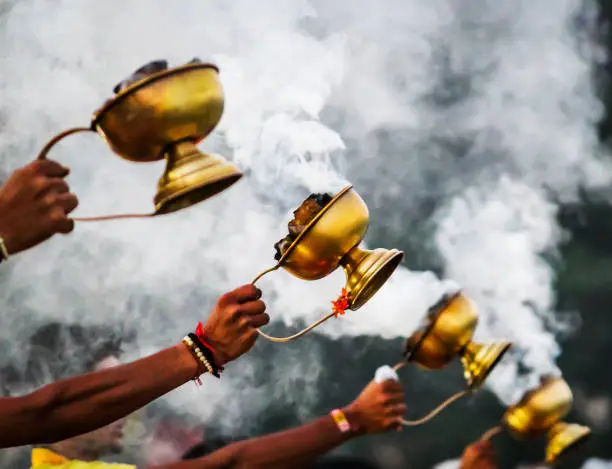
M 400 419 L 406 412 L 402 385 L 393 380 L 370 382 L 344 413 L 360 433 L 401 430 Z

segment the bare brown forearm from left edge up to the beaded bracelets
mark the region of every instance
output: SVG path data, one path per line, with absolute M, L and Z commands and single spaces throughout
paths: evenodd
M 52 443 L 124 417 L 192 379 L 197 362 L 182 344 L 116 368 L 0 399 L 0 447 Z

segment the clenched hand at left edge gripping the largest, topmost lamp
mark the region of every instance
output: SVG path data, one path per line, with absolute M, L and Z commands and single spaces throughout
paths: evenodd
M 36 160 L 15 171 L 0 187 L 0 236 L 9 254 L 74 229 L 68 215 L 78 200 L 64 181 L 69 172 L 55 161 Z

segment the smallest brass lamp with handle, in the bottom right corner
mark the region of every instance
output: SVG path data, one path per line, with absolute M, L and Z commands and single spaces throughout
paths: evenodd
M 544 377 L 540 385 L 525 393 L 515 405 L 510 406 L 501 426 L 483 434 L 488 440 L 506 429 L 517 439 L 527 440 L 546 436 L 546 464 L 554 464 L 570 449 L 575 449 L 591 435 L 591 429 L 562 419 L 572 409 L 572 390 L 563 378 Z

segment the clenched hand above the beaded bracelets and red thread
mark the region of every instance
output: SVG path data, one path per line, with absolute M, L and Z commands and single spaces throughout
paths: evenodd
M 243 285 L 226 293 L 217 301 L 204 330 L 215 350 L 218 366 L 248 352 L 257 340 L 257 328 L 270 322 L 266 305 L 260 300 L 261 290 Z

